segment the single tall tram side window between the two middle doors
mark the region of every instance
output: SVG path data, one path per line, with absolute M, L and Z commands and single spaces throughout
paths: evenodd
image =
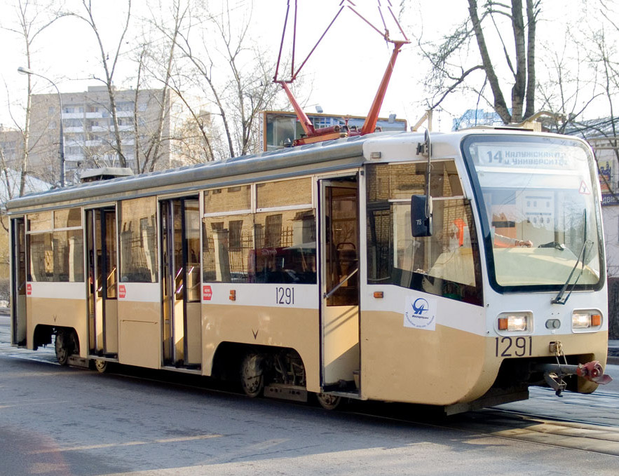
M 123 200 L 120 206 L 121 281 L 158 280 L 156 198 Z

